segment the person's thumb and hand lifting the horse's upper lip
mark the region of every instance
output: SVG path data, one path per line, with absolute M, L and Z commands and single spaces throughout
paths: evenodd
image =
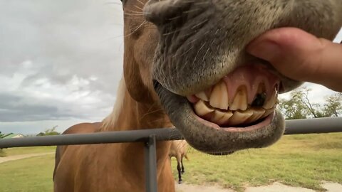
M 294 80 L 315 82 L 342 92 L 342 45 L 298 28 L 277 28 L 254 39 L 247 52 L 269 61 Z

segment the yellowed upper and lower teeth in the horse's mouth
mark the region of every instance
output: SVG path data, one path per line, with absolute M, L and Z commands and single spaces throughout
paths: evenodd
M 229 100 L 228 87 L 224 81 L 220 81 L 212 87 L 211 92 L 199 92 L 195 95 L 200 99 L 194 105 L 195 112 L 200 117 L 219 125 L 234 126 L 255 122 L 274 111 L 277 97 L 276 87 L 271 95 L 266 95 L 262 87 L 264 84 L 261 83 L 259 86 L 256 94 L 261 95 L 262 100 L 248 103 L 247 87 L 238 87 L 232 100 Z M 252 103 L 257 105 L 253 107 Z

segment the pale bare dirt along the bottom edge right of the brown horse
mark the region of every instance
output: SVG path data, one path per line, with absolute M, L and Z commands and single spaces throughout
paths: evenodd
M 328 192 L 341 192 L 342 185 L 339 183 L 331 183 L 323 181 L 321 184 Z M 177 192 L 234 192 L 232 189 L 221 188 L 219 186 L 195 186 L 189 184 L 176 184 Z M 309 188 L 286 186 L 281 183 L 275 182 L 269 186 L 247 187 L 244 192 L 315 192 Z

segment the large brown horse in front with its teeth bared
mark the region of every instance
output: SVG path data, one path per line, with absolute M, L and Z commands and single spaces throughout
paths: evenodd
M 275 107 L 278 93 L 302 82 L 284 77 L 245 47 L 273 28 L 300 28 L 332 40 L 342 26 L 341 0 L 122 4 L 123 79 L 113 112 L 64 134 L 175 125 L 207 154 L 269 146 L 284 132 L 284 117 Z M 175 191 L 170 145 L 157 142 L 158 191 Z M 58 146 L 54 191 L 144 191 L 143 149 L 142 143 Z

